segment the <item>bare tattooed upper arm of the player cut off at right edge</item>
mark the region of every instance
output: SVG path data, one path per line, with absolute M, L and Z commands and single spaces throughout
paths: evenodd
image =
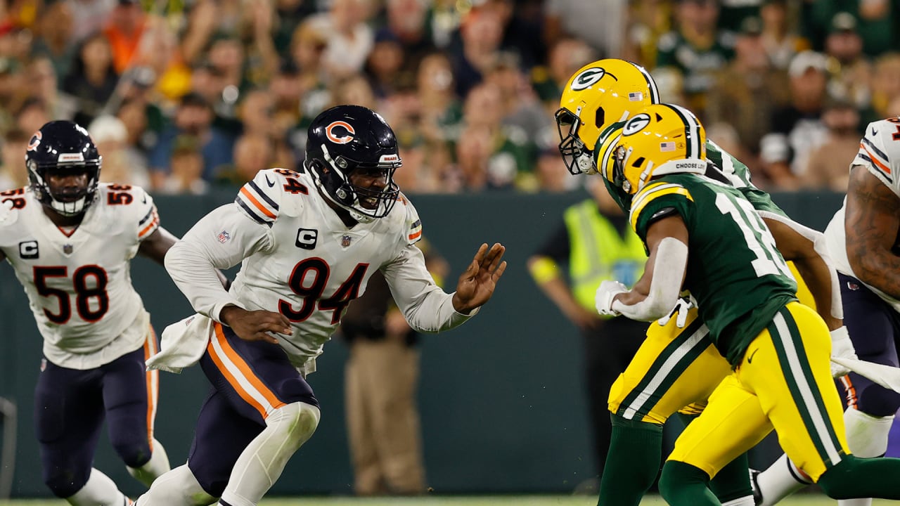
M 900 198 L 867 167 L 851 167 L 844 232 L 853 274 L 900 299 L 900 257 L 892 252 L 900 230 Z

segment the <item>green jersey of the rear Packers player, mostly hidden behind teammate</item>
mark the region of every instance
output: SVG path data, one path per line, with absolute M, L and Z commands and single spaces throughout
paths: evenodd
M 603 167 L 601 167 L 598 158 L 600 156 L 599 149 L 603 145 L 603 140 L 605 140 L 610 133 L 621 129 L 624 125 L 625 122 L 613 123 L 604 131 L 600 132 L 597 146 L 594 149 L 594 162 L 597 164 L 597 167 L 600 167 L 600 170 L 603 170 Z M 734 156 L 725 151 L 725 149 L 720 148 L 719 145 L 712 140 L 707 140 L 707 161 L 711 164 L 707 167 L 707 176 L 737 188 L 738 191 L 753 204 L 754 209 L 757 211 L 775 212 L 787 217 L 787 214 L 785 214 L 778 205 L 772 202 L 772 198 L 769 194 L 753 185 L 750 178 L 750 169 L 744 165 L 741 160 L 734 158 Z M 606 177 L 603 178 L 603 181 L 607 185 L 609 194 L 613 196 L 613 199 L 616 200 L 619 207 L 621 207 L 624 212 L 628 212 L 631 208 L 631 195 L 627 194 L 621 188 L 612 185 Z

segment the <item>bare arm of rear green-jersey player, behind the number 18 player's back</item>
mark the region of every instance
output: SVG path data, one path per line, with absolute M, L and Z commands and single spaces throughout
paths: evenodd
M 828 330 L 843 325 L 841 288 L 837 271 L 831 264 L 822 232 L 774 212 L 759 212 L 775 238 L 785 260 L 793 261 L 815 300 L 815 309 L 828 324 Z

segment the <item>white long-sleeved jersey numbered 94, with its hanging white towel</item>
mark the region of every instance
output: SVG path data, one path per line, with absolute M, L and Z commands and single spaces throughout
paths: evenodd
M 226 304 L 284 314 L 293 335 L 278 339 L 293 364 L 303 366 L 321 353 L 347 304 L 379 268 L 413 328 L 446 330 L 472 316 L 455 312 L 452 295 L 435 285 L 415 246 L 421 233 L 419 215 L 403 195 L 387 216 L 348 228 L 309 174 L 268 169 L 234 203 L 198 221 L 169 250 L 166 269 L 194 310 L 212 320 L 219 321 Z M 225 292 L 214 267 L 238 262 L 240 272 Z M 178 370 L 202 356 L 208 326 L 188 330 L 191 322 L 163 332 L 151 368 Z

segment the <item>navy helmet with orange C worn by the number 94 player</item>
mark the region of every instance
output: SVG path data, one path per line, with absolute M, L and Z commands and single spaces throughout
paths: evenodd
M 393 174 L 402 162 L 397 138 L 384 119 L 361 105 L 338 105 L 312 121 L 303 167 L 331 202 L 356 221 L 371 222 L 391 212 L 400 187 Z M 382 171 L 383 189 L 354 185 L 355 170 Z

